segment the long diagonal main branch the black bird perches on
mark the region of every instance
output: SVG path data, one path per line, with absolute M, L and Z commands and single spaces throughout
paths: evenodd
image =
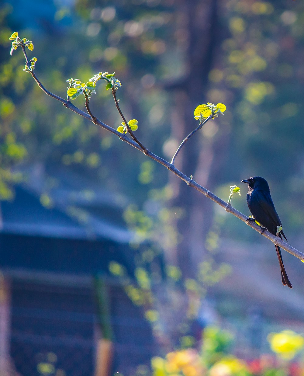
M 25 51 L 24 51 L 24 55 L 26 56 Z M 29 63 L 29 61 L 27 59 L 27 56 L 26 56 L 26 61 L 27 61 L 27 63 Z M 213 194 L 212 192 L 208 191 L 206 188 L 204 188 L 203 186 L 201 186 L 200 184 L 198 184 L 197 182 L 195 182 L 192 178 L 190 178 L 190 177 L 186 176 L 185 174 L 183 174 L 180 170 L 178 170 L 174 166 L 174 164 L 169 163 L 165 159 L 160 158 L 159 156 L 151 153 L 149 150 L 147 150 L 143 146 L 141 146 L 141 144 L 138 141 L 136 141 L 136 140 L 133 141 L 132 139 L 130 139 L 129 137 L 127 137 L 126 134 L 118 132 L 116 129 L 110 127 L 109 125 L 107 125 L 105 123 L 103 123 L 102 121 L 98 120 L 97 118 L 95 118 L 95 121 L 93 121 L 92 115 L 86 114 L 85 112 L 83 112 L 82 110 L 80 110 L 79 108 L 77 108 L 76 106 L 74 106 L 69 100 L 65 100 L 63 98 L 60 98 L 60 97 L 56 96 L 55 94 L 51 93 L 50 91 L 48 91 L 47 89 L 45 89 L 44 86 L 41 84 L 41 82 L 36 77 L 36 75 L 33 72 L 31 72 L 31 74 L 32 74 L 33 78 L 35 79 L 36 83 L 42 89 L 42 91 L 45 92 L 45 94 L 47 94 L 48 96 L 50 96 L 50 97 L 52 97 L 54 99 L 59 100 L 59 102 L 64 103 L 64 105 L 68 109 L 70 109 L 71 111 L 73 111 L 76 114 L 82 116 L 83 118 L 86 118 L 86 119 L 92 121 L 94 124 L 100 126 L 101 128 L 103 128 L 103 129 L 105 129 L 105 130 L 107 130 L 107 131 L 115 134 L 120 139 L 122 139 L 124 142 L 126 142 L 127 144 L 129 144 L 130 146 L 135 147 L 135 149 L 141 151 L 142 153 L 144 153 L 145 155 L 147 155 L 149 158 L 153 159 L 154 161 L 156 161 L 159 164 L 163 165 L 164 167 L 168 168 L 168 170 L 170 170 L 172 173 L 174 173 L 176 176 L 178 176 L 181 180 L 183 180 L 184 182 L 186 182 L 189 186 L 195 188 L 197 191 L 199 191 L 200 193 L 203 193 L 210 200 L 212 200 L 215 203 L 217 203 L 218 205 L 222 206 L 222 208 L 224 208 L 225 211 L 233 214 L 235 217 L 239 218 L 241 221 L 243 221 L 246 224 L 248 224 L 248 226 L 252 227 L 254 230 L 256 230 L 257 232 L 261 233 L 265 238 L 271 240 L 272 243 L 274 243 L 275 245 L 281 247 L 286 252 L 289 252 L 293 256 L 295 256 L 298 259 L 304 261 L 304 254 L 302 252 L 300 252 L 299 250 L 293 248 L 289 244 L 285 243 L 283 240 L 281 240 L 279 237 L 273 235 L 269 231 L 264 230 L 263 227 L 259 226 L 255 221 L 250 221 L 249 217 L 247 217 L 245 214 L 242 214 L 238 210 L 234 209 L 233 206 L 231 206 L 231 204 L 228 204 L 227 202 L 223 201 L 218 196 L 216 196 L 215 194 Z M 114 99 L 115 98 L 116 97 L 114 97 Z M 119 106 L 118 106 L 118 108 L 119 108 Z

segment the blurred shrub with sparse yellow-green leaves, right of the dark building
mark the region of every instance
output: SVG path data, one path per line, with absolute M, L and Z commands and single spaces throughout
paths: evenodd
M 215 262 L 205 261 L 199 265 L 197 279 L 183 279 L 181 270 L 174 265 L 166 265 L 166 275 L 163 276 L 157 257 L 160 252 L 161 249 L 153 246 L 141 247 L 141 251 L 135 254 L 135 281 L 126 268 L 116 261 L 109 263 L 109 271 L 120 280 L 133 304 L 142 306 L 145 318 L 160 344 L 176 346 L 179 343 L 182 347 L 189 347 L 196 342 L 193 325 L 201 327 L 205 324 L 201 322 L 200 310 L 207 288 L 214 286 L 231 270 L 224 263 L 216 265 Z M 225 341 L 228 341 L 225 333 L 220 333 L 218 338 L 216 346 L 225 347 Z M 209 348 L 213 349 L 214 346 L 210 339 Z

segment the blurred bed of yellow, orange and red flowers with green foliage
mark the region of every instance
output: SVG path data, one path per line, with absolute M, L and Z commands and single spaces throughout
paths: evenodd
M 295 338 L 298 343 L 297 351 L 303 349 L 303 337 L 292 331 L 273 333 L 269 339 L 272 350 L 276 353 L 290 354 L 290 349 L 295 349 Z M 284 336 L 284 349 L 277 345 Z M 302 362 L 278 362 L 271 355 L 262 355 L 258 359 L 244 360 L 231 355 L 233 336 L 218 327 L 206 327 L 201 350 L 189 346 L 188 349 L 178 349 L 166 354 L 165 358 L 155 356 L 151 359 L 153 376 L 299 376 L 303 374 Z M 302 340 L 302 342 L 301 342 Z M 301 344 L 300 344 L 301 342 Z M 273 344 L 275 343 L 275 349 Z M 147 373 L 148 374 L 148 373 Z

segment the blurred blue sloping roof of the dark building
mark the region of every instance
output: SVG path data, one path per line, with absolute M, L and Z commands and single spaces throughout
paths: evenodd
M 1 203 L 1 232 L 118 243 L 131 240 L 132 233 L 123 222 L 124 197 L 68 169 L 56 171 L 51 189 L 46 188 L 41 166 L 24 173 L 27 181 L 15 188 L 14 201 Z

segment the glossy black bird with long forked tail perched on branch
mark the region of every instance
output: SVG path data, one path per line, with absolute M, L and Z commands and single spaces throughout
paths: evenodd
M 248 208 L 253 215 L 254 219 L 266 227 L 266 229 L 273 235 L 277 234 L 277 227 L 281 226 L 281 220 L 275 210 L 274 203 L 272 202 L 269 185 L 265 179 L 260 176 L 250 177 L 249 179 L 242 180 L 242 183 L 248 184 L 247 204 Z M 286 239 L 283 231 L 279 232 L 279 237 L 282 239 L 282 235 Z M 277 251 L 278 260 L 281 268 L 281 277 L 284 286 L 292 288 L 292 285 L 287 277 L 286 270 L 284 268 L 281 249 L 275 246 Z

